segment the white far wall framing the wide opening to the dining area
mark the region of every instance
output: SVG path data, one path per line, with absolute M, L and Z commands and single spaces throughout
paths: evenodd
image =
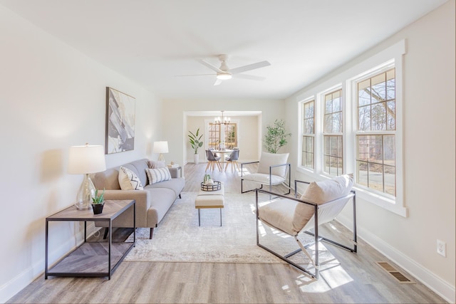
M 266 132 L 266 125 L 273 125 L 274 120 L 283 119 L 285 115 L 284 100 L 165 100 L 163 102 L 163 138 L 164 140 L 172 139 L 170 145 L 170 153 L 166 159 L 174 160 L 177 164 L 185 164 L 187 162 L 187 153 L 191 147 L 188 143 L 187 130 L 187 112 L 192 111 L 261 111 L 261 134 L 256 138 L 251 138 L 257 141 L 257 145 L 261 150 L 261 135 Z M 204 122 L 199 121 L 198 125 L 201 130 L 204 130 Z M 192 131 L 196 131 L 192 129 Z M 259 127 L 256 128 L 258 130 Z M 242 135 L 244 136 L 244 135 Z M 252 136 L 252 135 L 249 135 Z M 171 148 L 173 147 L 173 148 Z M 285 149 L 284 149 L 285 151 Z M 199 159 L 205 159 L 204 152 L 199 152 Z M 258 159 L 259 155 L 254 159 Z M 193 159 L 192 157 L 190 159 Z M 247 156 L 246 156 L 247 159 Z

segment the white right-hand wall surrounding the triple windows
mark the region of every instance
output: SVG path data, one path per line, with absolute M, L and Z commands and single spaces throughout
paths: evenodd
M 403 85 L 404 218 L 362 199 L 358 232 L 405 270 L 455 302 L 455 1 L 448 1 L 331 75 L 287 100 L 296 120 L 299 95 L 406 39 Z M 354 75 L 353 75 L 354 76 Z M 295 137 L 296 138 L 296 137 Z M 299 147 L 291 147 L 297 163 Z M 305 174 L 296 172 L 297 177 Z M 349 218 L 348 214 L 344 214 Z M 437 239 L 447 257 L 437 255 Z M 362 256 L 361 250 L 358 255 Z

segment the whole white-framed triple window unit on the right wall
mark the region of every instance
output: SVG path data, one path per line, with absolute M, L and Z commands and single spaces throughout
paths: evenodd
M 400 120 L 404 54 L 405 40 L 297 96 L 297 171 L 316 180 L 353 173 L 358 198 L 406 217 Z

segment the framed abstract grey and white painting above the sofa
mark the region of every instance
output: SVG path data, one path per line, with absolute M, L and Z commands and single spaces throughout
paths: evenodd
M 135 147 L 135 98 L 106 87 L 105 154 Z

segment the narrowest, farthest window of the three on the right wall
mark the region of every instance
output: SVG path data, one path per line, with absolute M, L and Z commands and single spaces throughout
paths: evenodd
M 302 159 L 304 167 L 314 169 L 315 154 L 315 100 L 304 103 L 302 107 Z

